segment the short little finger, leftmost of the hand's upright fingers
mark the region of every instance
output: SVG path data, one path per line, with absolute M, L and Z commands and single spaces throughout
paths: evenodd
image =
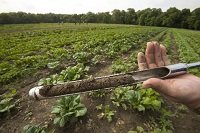
M 142 52 L 138 53 L 137 60 L 138 60 L 139 70 L 144 70 L 148 68 L 145 55 Z

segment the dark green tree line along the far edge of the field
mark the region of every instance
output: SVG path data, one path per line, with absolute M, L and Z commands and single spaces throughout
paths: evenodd
M 200 30 L 200 8 L 179 10 L 175 7 L 163 12 L 160 8 L 138 10 L 114 9 L 110 12 L 86 14 L 32 14 L 24 12 L 10 12 L 0 14 L 0 24 L 25 23 L 112 23 L 145 26 L 163 26 Z

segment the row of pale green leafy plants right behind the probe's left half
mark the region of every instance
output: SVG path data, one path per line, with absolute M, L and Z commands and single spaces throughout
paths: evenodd
M 77 64 L 73 67 L 69 66 L 59 74 L 51 75 L 49 78 L 40 79 L 38 85 L 56 85 L 63 84 L 66 81 L 77 80 L 83 77 L 88 70 L 89 67 L 85 67 L 83 64 Z

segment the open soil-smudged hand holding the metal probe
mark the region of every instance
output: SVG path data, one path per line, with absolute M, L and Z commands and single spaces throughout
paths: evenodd
M 139 70 L 169 65 L 166 48 L 157 42 L 148 42 L 145 55 L 138 53 Z M 200 107 L 200 78 L 184 74 L 170 79 L 151 78 L 143 83 L 144 88 L 153 88 L 162 96 L 196 109 Z

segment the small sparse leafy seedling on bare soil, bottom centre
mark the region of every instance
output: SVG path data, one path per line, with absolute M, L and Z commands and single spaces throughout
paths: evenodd
M 108 122 L 111 122 L 113 116 L 115 115 L 116 111 L 110 109 L 110 105 L 106 105 L 103 107 L 102 104 L 96 106 L 97 110 L 103 110 L 102 113 L 98 114 L 98 118 L 106 118 Z

